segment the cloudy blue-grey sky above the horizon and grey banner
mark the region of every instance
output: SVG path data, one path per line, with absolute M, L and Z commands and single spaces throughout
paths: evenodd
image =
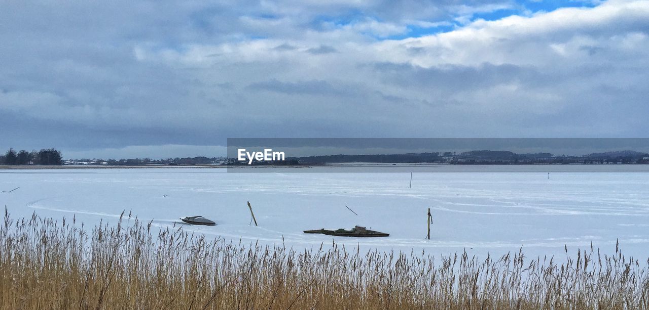
M 3 149 L 649 133 L 649 1 L 3 0 L 0 39 Z

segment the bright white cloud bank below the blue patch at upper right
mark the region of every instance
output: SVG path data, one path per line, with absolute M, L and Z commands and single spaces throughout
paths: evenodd
M 646 34 L 639 30 L 648 24 L 649 1 L 606 3 L 595 8 L 562 8 L 531 17 L 478 20 L 443 34 L 378 43 L 376 49 L 377 54 L 384 56 L 383 61 L 422 67 L 485 62 L 552 66 L 558 64 L 557 56 L 569 56 L 566 45 L 578 39 L 618 49 L 615 41 L 631 32 L 635 41 L 630 44 L 641 47 L 646 44 Z M 408 53 L 411 47 L 422 48 L 426 53 L 413 56 Z M 636 51 L 645 54 L 643 50 Z

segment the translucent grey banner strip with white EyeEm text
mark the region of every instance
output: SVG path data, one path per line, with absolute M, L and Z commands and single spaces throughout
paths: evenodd
M 649 172 L 649 138 L 228 138 L 228 172 Z

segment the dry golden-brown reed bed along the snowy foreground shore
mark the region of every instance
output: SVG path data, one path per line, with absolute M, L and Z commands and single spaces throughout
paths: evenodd
M 129 216 L 124 216 L 129 219 Z M 129 223 L 129 225 L 125 225 Z M 35 214 L 0 228 L 2 309 L 646 309 L 647 261 L 579 250 L 360 252 L 206 239 L 119 220 L 86 230 Z

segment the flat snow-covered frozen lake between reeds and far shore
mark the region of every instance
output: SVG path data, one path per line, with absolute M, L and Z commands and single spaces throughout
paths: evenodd
M 223 168 L 0 170 L 0 204 L 14 219 L 71 218 L 92 227 L 115 223 L 123 210 L 157 227 L 202 215 L 215 227 L 185 230 L 244 242 L 296 248 L 330 245 L 332 237 L 302 234 L 317 228 L 366 226 L 388 238 L 334 237 L 346 247 L 500 256 L 521 246 L 527 256 L 565 257 L 600 247 L 649 257 L 649 173 L 523 172 L 228 173 Z M 641 166 L 646 170 L 644 166 Z M 300 168 L 308 169 L 308 168 Z M 347 171 L 344 167 L 334 167 Z M 445 168 L 447 169 L 447 168 Z M 537 170 L 530 171 L 529 169 Z M 598 168 L 589 168 L 597 171 Z M 287 172 L 288 171 L 288 172 Z M 554 171 L 554 170 L 553 170 Z M 589 170 L 590 171 L 590 170 Z M 303 171 L 302 171 L 303 172 Z M 166 196 L 166 197 L 165 197 Z M 250 201 L 259 227 L 251 221 Z M 345 208 L 352 208 L 358 216 Z M 432 208 L 431 239 L 426 209 Z

